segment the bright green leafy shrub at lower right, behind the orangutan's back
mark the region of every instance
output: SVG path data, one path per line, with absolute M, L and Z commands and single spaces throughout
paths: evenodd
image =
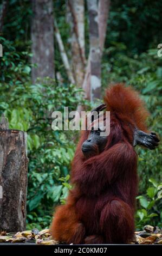
M 162 183 L 158 184 L 154 179 L 149 179 L 149 181 L 153 186 L 147 188 L 145 196 L 137 197 L 140 209 L 136 213 L 136 227 L 139 230 L 147 223 L 161 226 L 162 222 L 162 214 L 159 209 L 162 198 Z

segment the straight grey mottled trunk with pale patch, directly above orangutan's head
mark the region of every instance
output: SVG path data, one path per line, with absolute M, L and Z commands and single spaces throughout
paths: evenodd
M 90 42 L 90 100 L 100 99 L 101 94 L 101 51 L 98 23 L 98 1 L 87 0 L 89 13 Z

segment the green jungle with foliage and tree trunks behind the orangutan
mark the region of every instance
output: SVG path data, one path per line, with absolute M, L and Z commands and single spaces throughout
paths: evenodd
M 63 112 L 63 106 L 90 110 L 109 84 L 124 82 L 140 92 L 151 113 L 150 130 L 161 137 L 162 1 L 10 0 L 1 1 L 0 10 L 0 114 L 10 128 L 28 134 L 27 228 L 42 229 L 65 202 L 79 138 L 78 131 L 53 131 L 51 112 Z M 99 78 L 98 92 L 92 75 Z M 136 227 L 161 226 L 162 146 L 137 151 Z

